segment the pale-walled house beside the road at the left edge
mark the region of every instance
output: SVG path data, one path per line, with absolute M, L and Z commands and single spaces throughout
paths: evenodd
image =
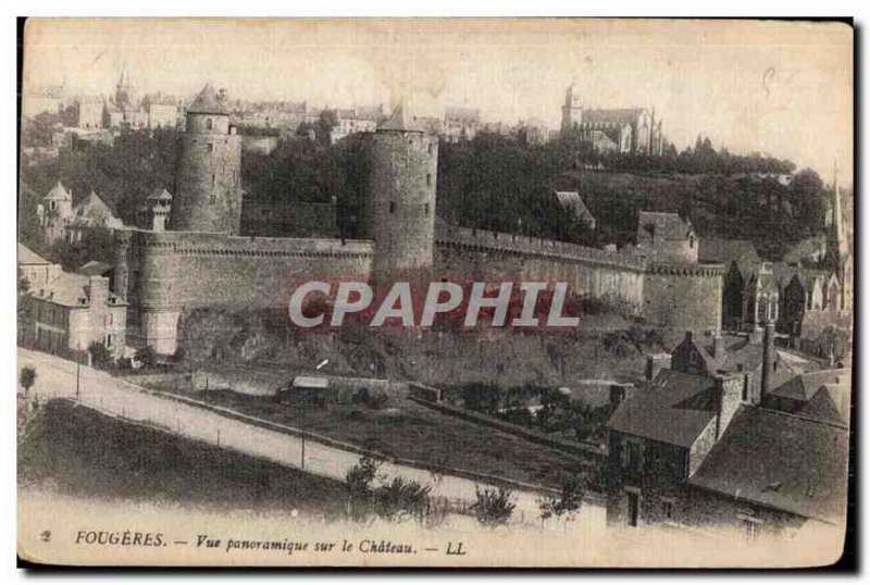
M 109 290 L 109 278 L 60 272 L 24 299 L 23 343 L 73 356 L 91 344 L 119 357 L 126 343 L 126 303 Z

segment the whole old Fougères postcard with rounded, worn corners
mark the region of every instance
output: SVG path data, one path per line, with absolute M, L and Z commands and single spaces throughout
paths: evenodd
M 849 23 L 34 18 L 20 75 L 22 559 L 843 553 Z

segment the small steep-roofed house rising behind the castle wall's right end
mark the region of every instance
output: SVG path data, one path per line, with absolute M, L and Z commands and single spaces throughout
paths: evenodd
M 695 264 L 698 238 L 692 222 L 676 213 L 642 211 L 637 219 L 635 248 L 656 262 Z

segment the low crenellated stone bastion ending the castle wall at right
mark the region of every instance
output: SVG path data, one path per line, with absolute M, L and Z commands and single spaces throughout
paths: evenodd
M 722 328 L 719 264 L 650 264 L 644 278 L 644 319 L 679 329 Z

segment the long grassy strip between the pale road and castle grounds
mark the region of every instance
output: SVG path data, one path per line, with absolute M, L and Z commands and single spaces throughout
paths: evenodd
M 176 390 L 177 391 L 177 390 Z M 363 404 L 298 407 L 231 391 L 187 391 L 191 398 L 299 427 L 385 455 L 559 486 L 563 472 L 585 474 L 591 462 L 520 437 L 435 412 L 407 399 Z

